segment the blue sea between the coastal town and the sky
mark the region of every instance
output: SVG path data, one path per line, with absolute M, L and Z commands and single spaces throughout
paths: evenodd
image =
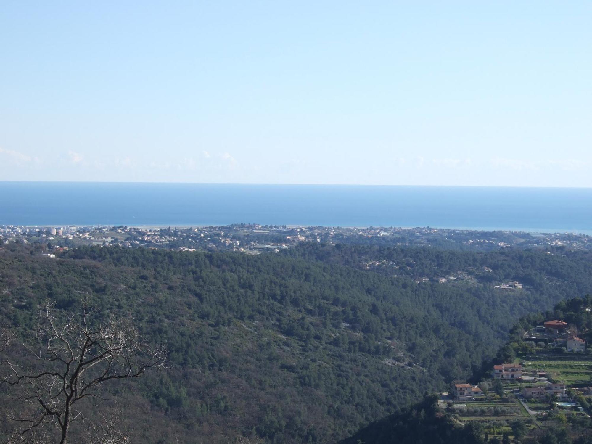
M 0 225 L 233 223 L 592 235 L 592 188 L 0 182 Z

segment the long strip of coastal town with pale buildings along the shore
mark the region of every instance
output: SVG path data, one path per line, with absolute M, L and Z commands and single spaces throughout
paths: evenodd
M 436 246 L 491 251 L 506 247 L 592 249 L 592 238 L 574 233 L 525 233 L 401 227 L 296 227 L 232 224 L 209 227 L 0 226 L 0 242 L 232 250 L 247 254 L 278 251 L 302 242 L 390 246 Z

